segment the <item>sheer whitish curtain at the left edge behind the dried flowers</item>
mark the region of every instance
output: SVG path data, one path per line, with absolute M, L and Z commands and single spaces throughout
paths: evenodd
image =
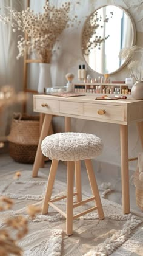
M 0 0 L 1 14 L 7 15 L 7 7 L 22 10 L 25 8 L 25 0 Z M 16 60 L 18 54 L 18 33 L 12 32 L 10 25 L 0 22 L 0 88 L 3 85 L 12 85 L 15 91 L 22 91 L 23 59 Z M 0 138 L 5 139 L 13 111 L 19 111 L 20 106 L 12 106 L 5 109 L 0 116 Z

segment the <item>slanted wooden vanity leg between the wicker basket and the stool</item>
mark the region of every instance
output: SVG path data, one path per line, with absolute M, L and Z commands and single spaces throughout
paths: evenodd
M 39 144 L 38 144 L 38 148 L 36 151 L 35 162 L 33 164 L 33 170 L 32 170 L 33 177 L 36 177 L 38 175 L 38 170 L 41 165 L 41 161 L 42 161 L 42 157 L 43 157 L 43 154 L 41 151 L 41 143 L 42 143 L 42 140 L 48 135 L 48 130 L 50 128 L 51 121 L 52 121 L 52 115 L 45 114 L 44 122 L 42 125 L 42 130 L 41 130 L 41 135 L 39 137 Z

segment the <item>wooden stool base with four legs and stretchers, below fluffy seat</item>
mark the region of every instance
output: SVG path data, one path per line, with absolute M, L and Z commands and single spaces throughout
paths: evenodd
M 98 185 L 96 183 L 95 173 L 93 171 L 91 159 L 85 160 L 85 166 L 87 168 L 88 179 L 90 181 L 91 191 L 93 196 L 82 200 L 81 195 L 81 161 L 67 161 L 67 195 L 59 196 L 58 198 L 50 199 L 52 196 L 52 189 L 55 181 L 56 171 L 58 168 L 58 160 L 53 159 L 50 168 L 50 174 L 48 177 L 47 189 L 45 192 L 44 204 L 42 207 L 42 214 L 48 213 L 48 207 L 53 207 L 57 212 L 66 218 L 66 234 L 68 236 L 73 234 L 73 220 L 79 218 L 82 215 L 92 212 L 93 210 L 98 211 L 100 220 L 104 219 L 104 212 L 102 210 L 101 198 L 98 191 Z M 75 168 L 74 168 L 75 164 Z M 75 173 L 74 173 L 75 172 Z M 76 192 L 73 192 L 74 187 L 74 174 L 76 183 Z M 73 196 L 76 196 L 76 203 L 73 204 Z M 67 198 L 66 213 L 59 209 L 54 203 Z M 95 201 L 95 206 L 84 210 L 84 212 L 73 215 L 73 209 L 87 204 L 87 202 Z

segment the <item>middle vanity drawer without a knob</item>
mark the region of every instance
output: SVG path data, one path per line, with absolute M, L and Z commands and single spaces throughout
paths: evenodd
M 83 116 L 83 103 L 79 102 L 60 102 L 60 113 L 75 114 L 76 116 Z

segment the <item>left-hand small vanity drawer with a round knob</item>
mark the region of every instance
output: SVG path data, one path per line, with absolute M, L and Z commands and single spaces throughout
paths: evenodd
M 59 112 L 59 101 L 34 98 L 34 111 L 47 114 L 50 114 L 50 112 Z

